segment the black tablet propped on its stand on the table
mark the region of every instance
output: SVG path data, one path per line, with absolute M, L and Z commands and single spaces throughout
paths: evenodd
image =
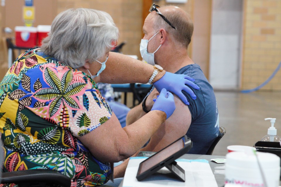
M 137 180 L 144 178 L 157 172 L 162 167 L 167 167 L 180 181 L 185 181 L 184 169 L 177 165 L 175 161 L 187 153 L 192 148 L 192 142 L 186 135 L 171 143 L 169 146 L 158 151 L 148 159 L 140 162 L 137 173 Z

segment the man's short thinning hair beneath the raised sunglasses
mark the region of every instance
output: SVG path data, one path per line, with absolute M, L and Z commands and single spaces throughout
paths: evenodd
M 163 12 L 162 12 L 163 13 Z M 171 27 L 160 15 L 155 14 L 153 28 L 155 33 L 160 28 L 165 29 L 172 39 L 188 48 L 193 34 L 193 22 L 188 13 L 181 11 L 167 11 L 163 15 L 169 20 L 176 29 Z

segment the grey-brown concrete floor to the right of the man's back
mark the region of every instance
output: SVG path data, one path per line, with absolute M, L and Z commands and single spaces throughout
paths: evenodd
M 281 92 L 253 93 L 215 91 L 220 115 L 220 126 L 226 133 L 217 143 L 213 155 L 227 153 L 229 145 L 253 146 L 267 135 L 270 121 L 276 118 L 275 128 L 281 137 Z

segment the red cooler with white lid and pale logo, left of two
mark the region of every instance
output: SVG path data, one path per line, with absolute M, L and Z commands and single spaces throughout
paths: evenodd
M 37 28 L 16 26 L 16 46 L 18 47 L 35 47 L 37 45 Z

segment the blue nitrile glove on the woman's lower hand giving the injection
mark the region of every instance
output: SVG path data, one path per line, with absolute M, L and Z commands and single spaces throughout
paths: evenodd
M 167 91 L 163 88 L 157 97 L 155 103 L 153 104 L 151 110 L 161 110 L 166 113 L 167 118 L 172 115 L 174 110 L 176 109 L 174 96 L 171 92 Z

